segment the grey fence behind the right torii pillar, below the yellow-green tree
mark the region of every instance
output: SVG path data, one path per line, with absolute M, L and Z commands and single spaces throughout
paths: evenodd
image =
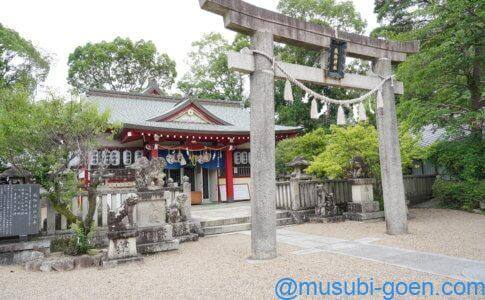
M 405 175 L 404 190 L 410 204 L 420 203 L 432 198 L 432 186 L 436 179 L 434 175 Z M 316 204 L 316 186 L 323 184 L 329 193 L 333 193 L 337 204 L 345 208 L 347 202 L 352 201 L 352 185 L 348 180 L 297 180 L 276 182 L 276 207 L 278 209 L 310 209 Z M 298 184 L 298 185 L 296 185 Z M 294 199 L 298 192 L 299 197 Z M 380 181 L 374 184 L 375 198 L 382 197 Z M 292 201 L 296 200 L 296 203 Z

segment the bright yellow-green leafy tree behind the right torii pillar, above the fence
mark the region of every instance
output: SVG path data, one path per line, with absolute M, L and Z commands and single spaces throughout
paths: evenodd
M 318 177 L 354 178 L 362 169 L 360 177 L 380 177 L 379 145 L 374 126 L 359 123 L 354 126 L 330 126 L 325 136 L 328 141 L 325 150 L 319 153 L 307 168 L 309 174 Z M 422 150 L 418 139 L 408 130 L 400 130 L 400 147 L 403 170 L 419 159 Z

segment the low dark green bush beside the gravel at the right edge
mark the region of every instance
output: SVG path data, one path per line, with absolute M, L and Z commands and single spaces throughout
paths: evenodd
M 433 195 L 446 208 L 471 211 L 478 208 L 485 199 L 485 180 L 451 181 L 437 179 L 433 185 Z

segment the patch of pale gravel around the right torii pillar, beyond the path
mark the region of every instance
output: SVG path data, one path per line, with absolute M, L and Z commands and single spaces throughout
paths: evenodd
M 378 238 L 376 244 L 485 261 L 485 216 L 449 209 L 411 209 L 409 234 L 385 234 L 384 221 L 303 224 L 295 229 L 348 240 Z

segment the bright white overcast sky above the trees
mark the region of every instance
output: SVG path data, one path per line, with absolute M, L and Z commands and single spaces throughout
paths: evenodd
M 246 0 L 276 10 L 278 0 Z M 352 0 L 367 20 L 367 32 L 377 26 L 374 0 Z M 192 41 L 216 31 L 228 39 L 222 17 L 200 9 L 198 0 L 15 0 L 2 1 L 0 23 L 19 32 L 52 57 L 51 71 L 41 91 L 66 93 L 67 57 L 87 42 L 117 36 L 152 40 L 160 52 L 177 62 L 179 77 L 187 70 Z

